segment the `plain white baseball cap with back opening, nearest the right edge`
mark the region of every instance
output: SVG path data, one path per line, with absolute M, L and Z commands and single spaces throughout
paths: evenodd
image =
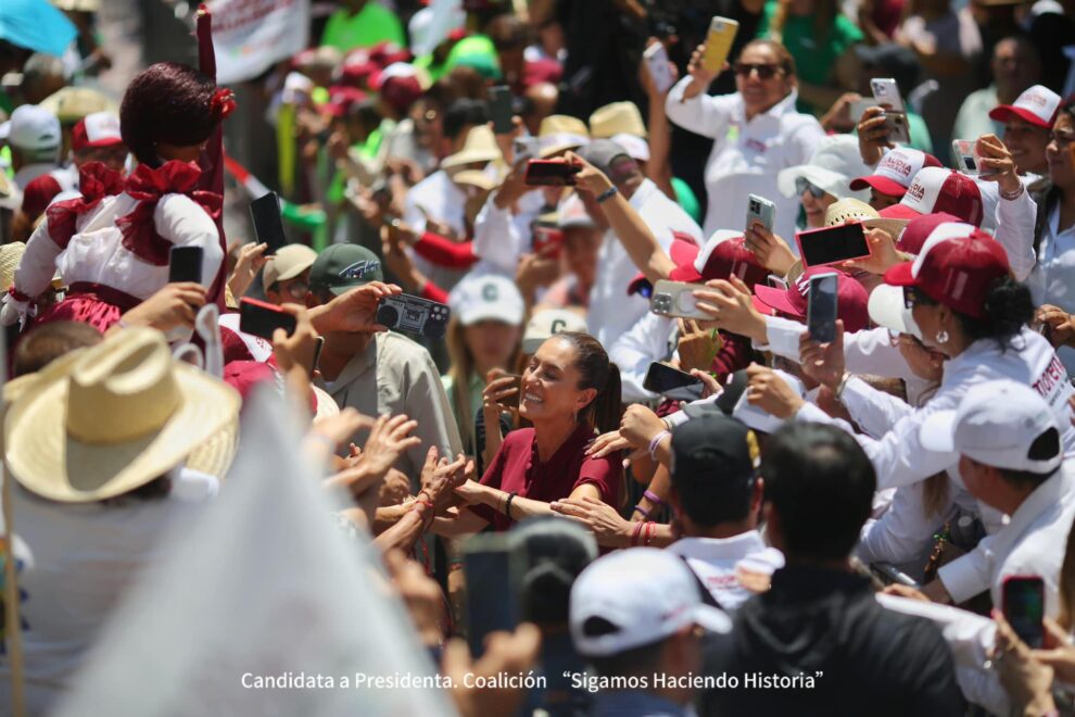
M 1057 414 L 1029 386 L 1007 379 L 979 383 L 956 411 L 929 415 L 919 440 L 931 451 L 1009 470 L 1048 475 L 1064 462 Z

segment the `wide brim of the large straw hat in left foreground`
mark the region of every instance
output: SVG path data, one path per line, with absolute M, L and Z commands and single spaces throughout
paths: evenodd
M 7 460 L 26 490 L 61 503 L 102 501 L 144 486 L 190 456 L 239 414 L 229 386 L 197 368 L 173 367 L 182 402 L 159 430 L 112 444 L 88 444 L 66 430 L 69 373 L 27 387 L 4 423 Z

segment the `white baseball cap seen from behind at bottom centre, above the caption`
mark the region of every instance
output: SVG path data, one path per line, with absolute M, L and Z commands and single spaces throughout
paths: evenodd
M 663 640 L 688 625 L 728 633 L 732 620 L 701 602 L 698 579 L 681 558 L 631 548 L 598 558 L 571 587 L 571 639 L 579 654 L 607 657 Z M 612 630 L 593 633 L 592 618 Z

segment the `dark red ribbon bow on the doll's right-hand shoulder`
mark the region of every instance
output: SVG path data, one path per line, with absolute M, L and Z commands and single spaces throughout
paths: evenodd
M 201 174 L 202 171 L 193 162 L 172 160 L 157 169 L 139 164 L 127 177 L 125 187 L 126 192 L 138 200 L 138 206 L 116 219 L 123 232 L 124 249 L 154 266 L 168 264 L 172 242 L 157 235 L 153 224 L 153 212 L 165 194 L 189 197 L 216 221 L 224 200 L 215 192 L 194 190 Z

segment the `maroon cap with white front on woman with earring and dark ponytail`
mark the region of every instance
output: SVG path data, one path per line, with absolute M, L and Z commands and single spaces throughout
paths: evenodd
M 916 287 L 934 301 L 982 318 L 986 295 L 1009 272 L 1008 252 L 987 232 L 965 224 L 941 224 L 913 262 L 885 272 L 885 284 Z

